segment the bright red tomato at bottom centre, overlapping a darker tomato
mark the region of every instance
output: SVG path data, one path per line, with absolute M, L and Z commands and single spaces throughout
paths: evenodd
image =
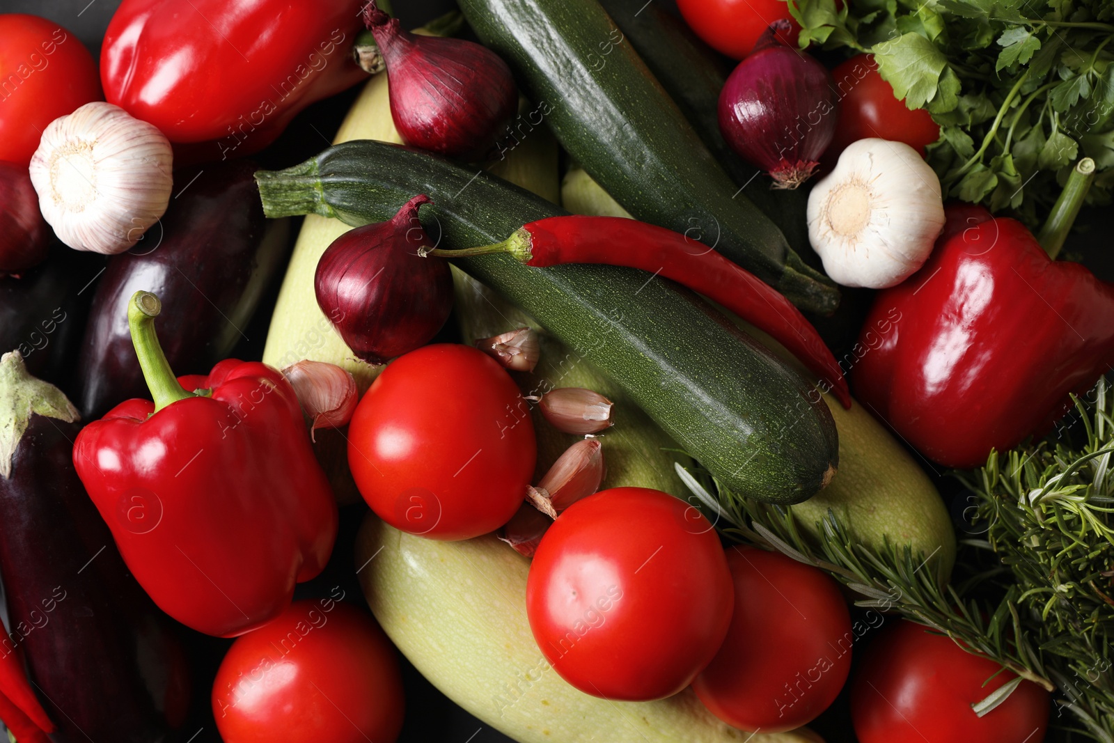
M 613 488 L 568 507 L 541 537 L 526 583 L 534 638 L 586 694 L 676 694 L 731 622 L 731 573 L 712 525 L 683 500 Z

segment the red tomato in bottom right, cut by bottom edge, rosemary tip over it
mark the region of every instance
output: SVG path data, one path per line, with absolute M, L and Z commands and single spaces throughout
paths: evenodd
M 851 721 L 859 742 L 1043 741 L 1049 695 L 1033 682 L 1023 681 L 983 717 L 971 710 L 1014 678 L 999 671 L 994 661 L 971 655 L 944 635 L 895 622 L 867 648 L 851 686 Z

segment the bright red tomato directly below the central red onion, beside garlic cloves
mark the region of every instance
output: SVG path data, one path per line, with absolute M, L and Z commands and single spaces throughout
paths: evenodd
M 470 539 L 509 521 L 536 459 L 515 382 L 467 345 L 395 359 L 349 426 L 349 466 L 364 500 L 394 528 L 431 539 Z

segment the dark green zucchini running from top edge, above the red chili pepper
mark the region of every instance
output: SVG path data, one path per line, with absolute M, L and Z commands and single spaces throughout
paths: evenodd
M 635 218 L 713 245 L 802 309 L 834 311 L 834 285 L 740 193 L 597 0 L 460 9 L 569 155 Z

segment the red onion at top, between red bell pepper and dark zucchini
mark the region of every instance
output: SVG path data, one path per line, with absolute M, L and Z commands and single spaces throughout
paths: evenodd
M 364 8 L 364 22 L 387 65 L 391 118 L 403 141 L 469 160 L 494 155 L 518 113 L 507 62 L 471 41 L 404 31 L 374 2 Z

